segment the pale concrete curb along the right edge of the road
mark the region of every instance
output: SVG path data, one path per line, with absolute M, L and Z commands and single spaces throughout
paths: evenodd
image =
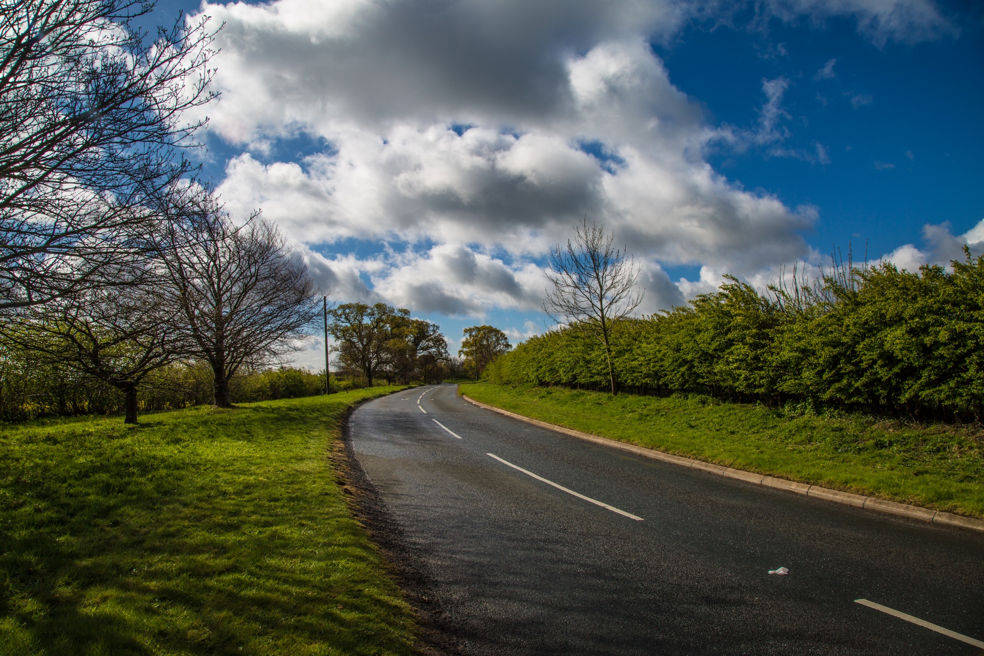
M 551 431 L 557 431 L 558 433 L 564 433 L 566 435 L 573 436 L 575 438 L 580 438 L 588 442 L 593 442 L 599 445 L 604 445 L 606 447 L 620 448 L 624 451 L 630 451 L 636 453 L 637 455 L 643 455 L 653 460 L 662 460 L 663 462 L 672 462 L 673 464 L 683 465 L 684 467 L 692 467 L 693 469 L 701 469 L 704 471 L 709 471 L 712 474 L 718 474 L 719 476 L 724 476 L 726 478 L 734 478 L 740 481 L 745 481 L 747 483 L 754 483 L 755 485 L 764 485 L 767 488 L 776 488 L 778 490 L 785 490 L 787 492 L 794 492 L 800 495 L 806 495 L 808 497 L 817 497 L 819 499 L 826 499 L 827 501 L 834 502 L 837 504 L 846 504 L 847 506 L 856 506 L 868 508 L 870 510 L 878 510 L 879 512 L 888 512 L 889 514 L 897 514 L 903 517 L 908 517 L 910 519 L 921 519 L 922 521 L 929 521 L 934 524 L 947 524 L 948 526 L 959 526 L 960 528 L 969 528 L 973 531 L 984 532 L 984 519 L 976 519 L 974 517 L 964 517 L 963 515 L 953 514 L 951 512 L 944 512 L 942 510 L 931 510 L 926 507 L 910 506 L 908 504 L 897 504 L 895 502 L 886 501 L 884 499 L 876 499 L 875 497 L 862 497 L 861 495 L 853 495 L 849 492 L 840 492 L 839 490 L 830 490 L 828 488 L 822 488 L 819 485 L 808 485 L 806 483 L 797 483 L 795 481 L 787 481 L 783 478 L 774 478 L 772 476 L 765 476 L 763 474 L 756 474 L 751 471 L 743 471 L 741 469 L 732 469 L 731 467 L 724 467 L 719 464 L 712 464 L 710 462 L 704 462 L 703 460 L 695 460 L 694 458 L 684 457 L 682 455 L 673 455 L 672 453 L 664 453 L 663 451 L 658 451 L 654 448 L 639 447 L 637 445 L 631 445 L 627 442 L 618 442 L 617 440 L 609 440 L 608 438 L 599 438 L 596 435 L 591 435 L 589 433 L 582 433 L 581 431 L 575 431 L 574 429 L 565 428 L 563 426 L 557 426 L 556 424 L 548 424 L 545 421 L 540 421 L 539 419 L 533 419 L 531 417 L 524 417 L 523 415 L 518 415 L 515 412 L 510 412 L 509 410 L 503 410 L 502 408 L 497 408 L 494 405 L 487 405 L 480 401 L 476 401 L 473 398 L 468 398 L 464 394 L 461 394 L 461 398 L 473 403 L 478 407 L 485 408 L 487 410 L 492 410 L 493 412 L 498 412 L 499 414 L 504 414 L 514 419 L 519 419 L 527 424 L 533 424 L 535 426 L 540 426 L 542 428 L 550 429 Z

